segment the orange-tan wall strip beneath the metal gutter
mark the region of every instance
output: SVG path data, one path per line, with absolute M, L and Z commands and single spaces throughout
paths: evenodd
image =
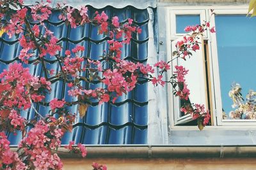
M 62 159 L 64 169 L 92 169 L 92 162 L 106 164 L 109 170 L 249 170 L 256 159 Z

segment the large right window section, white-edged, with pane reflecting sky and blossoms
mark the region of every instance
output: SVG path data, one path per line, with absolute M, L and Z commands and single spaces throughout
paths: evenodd
M 217 33 L 212 51 L 216 56 L 214 66 L 218 64 L 214 68 L 218 125 L 255 125 L 256 122 L 254 94 L 251 92 L 247 96 L 250 90 L 256 90 L 253 78 L 256 74 L 253 51 L 256 48 L 256 18 L 246 17 L 246 12 L 216 10 L 214 15 Z

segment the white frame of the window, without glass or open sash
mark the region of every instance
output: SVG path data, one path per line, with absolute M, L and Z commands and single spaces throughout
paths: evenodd
M 247 14 L 248 5 L 239 5 L 239 6 L 172 6 L 166 7 L 166 45 L 167 45 L 167 60 L 172 59 L 172 41 L 184 36 L 184 34 L 176 33 L 176 18 L 175 15 L 200 15 L 204 16 L 201 20 L 201 23 L 204 20 L 209 21 L 211 18 L 211 26 L 215 25 L 214 15 L 211 16 L 211 9 L 214 9 L 216 15 L 239 15 Z M 204 13 L 205 12 L 205 13 Z M 218 55 L 217 55 L 217 45 L 216 45 L 216 34 L 210 34 L 209 31 L 206 32 L 204 36 L 204 41 L 207 41 L 209 48 L 209 79 L 211 87 L 211 111 L 212 111 L 212 125 L 205 127 L 205 129 L 216 129 L 225 126 L 227 129 L 237 129 L 237 125 L 240 125 L 238 129 L 247 129 L 250 127 L 256 127 L 256 120 L 223 120 L 222 119 L 222 109 L 221 109 L 221 94 L 220 94 L 220 74 L 218 68 Z M 168 75 L 168 80 L 170 80 Z M 175 103 L 175 97 L 172 92 L 172 85 L 168 83 L 168 90 L 170 95 L 168 95 L 169 108 L 168 112 L 170 113 L 170 128 L 175 130 L 179 129 L 191 129 L 195 130 L 197 127 L 191 126 L 177 126 L 177 113 L 173 111 L 173 108 L 177 107 L 177 101 Z M 180 118 L 179 120 L 189 120 L 189 117 Z M 178 121 L 179 122 L 179 121 Z

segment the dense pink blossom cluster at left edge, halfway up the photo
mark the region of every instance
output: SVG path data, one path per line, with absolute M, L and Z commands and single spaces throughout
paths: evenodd
M 38 92 L 39 88 L 51 90 L 51 83 L 45 78 L 35 78 L 31 76 L 28 68 L 23 68 L 21 64 L 10 64 L 9 70 L 0 74 L 0 94 L 4 106 L 9 108 L 31 107 L 30 97 L 35 101 L 44 99 L 44 95 Z

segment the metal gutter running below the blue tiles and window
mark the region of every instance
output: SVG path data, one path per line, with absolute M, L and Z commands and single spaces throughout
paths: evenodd
M 140 159 L 177 159 L 177 158 L 252 158 L 256 157 L 256 145 L 129 145 L 129 146 L 87 146 L 88 158 L 140 158 Z M 58 149 L 62 158 L 79 158 L 78 154 L 65 153 Z

